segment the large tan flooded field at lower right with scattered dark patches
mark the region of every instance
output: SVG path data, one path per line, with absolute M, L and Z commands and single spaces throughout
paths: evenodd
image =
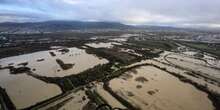
M 110 81 L 121 97 L 143 110 L 213 110 L 207 94 L 152 66 Z M 137 80 L 137 79 L 144 80 Z

